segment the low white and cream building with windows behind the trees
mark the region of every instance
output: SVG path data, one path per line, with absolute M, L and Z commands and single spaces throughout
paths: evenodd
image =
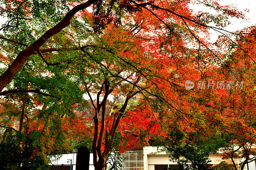
M 221 161 L 218 154 L 210 154 L 210 165 L 217 165 Z M 76 153 L 63 154 L 60 159 L 52 159 L 53 166 L 69 166 L 67 159 L 72 159 L 73 169 L 76 169 Z M 175 162 L 169 160 L 169 155 L 165 152 L 157 152 L 157 148 L 153 146 L 147 146 L 143 148 L 143 151 L 127 151 L 121 155 L 123 170 L 164 170 L 168 167 L 177 167 Z M 249 170 L 256 170 L 256 163 L 252 161 L 248 164 Z M 109 168 L 110 166 L 108 166 Z M 92 163 L 92 153 L 90 155 L 89 170 L 94 170 Z M 69 168 L 70 169 L 70 168 Z M 246 170 L 247 166 L 245 167 Z

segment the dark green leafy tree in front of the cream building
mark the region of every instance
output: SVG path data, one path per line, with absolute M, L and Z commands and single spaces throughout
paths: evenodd
M 193 128 L 193 131 L 181 130 L 177 124 L 168 128 L 164 142 L 164 151 L 170 155 L 170 160 L 177 162 L 180 169 L 201 170 L 208 169 L 211 160 L 210 154 L 217 153 L 223 146 L 220 133 Z M 212 134 L 212 135 L 211 135 Z

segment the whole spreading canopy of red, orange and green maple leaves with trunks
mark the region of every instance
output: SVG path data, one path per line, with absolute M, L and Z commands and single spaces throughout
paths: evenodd
M 49 144 L 42 154 L 86 143 L 101 170 L 119 144 L 154 144 L 174 127 L 198 136 L 215 129 L 226 148 L 235 141 L 244 149 L 240 158 L 252 154 L 255 28 L 222 29 L 228 17 L 244 18 L 236 8 L 213 0 L 3 0 L 0 11 L 0 125 L 20 120 L 33 144 Z M 216 43 L 211 29 L 221 34 Z M 195 88 L 186 90 L 186 80 Z

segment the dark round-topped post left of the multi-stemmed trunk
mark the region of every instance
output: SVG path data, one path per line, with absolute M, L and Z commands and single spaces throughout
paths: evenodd
M 77 150 L 76 170 L 89 170 L 90 151 L 86 146 L 80 146 Z

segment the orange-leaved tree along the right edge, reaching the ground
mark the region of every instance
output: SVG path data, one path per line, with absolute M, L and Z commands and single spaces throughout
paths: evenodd
M 255 33 L 252 28 L 251 33 Z M 237 40 L 240 44 L 247 47 L 247 51 L 240 48 L 230 48 L 233 50 L 229 56 L 228 65 L 232 68 L 229 78 L 237 78 L 244 81 L 243 90 L 226 90 L 225 100 L 220 102 L 223 138 L 228 141 L 220 150 L 223 152 L 223 159 L 230 159 L 235 169 L 244 169 L 247 162 L 255 160 L 255 152 L 252 146 L 255 144 L 255 102 L 253 87 L 255 83 L 255 51 L 252 35 L 240 36 Z M 246 44 L 246 45 L 245 45 Z M 249 51 L 249 53 L 247 53 Z M 240 165 L 237 165 L 237 162 Z

